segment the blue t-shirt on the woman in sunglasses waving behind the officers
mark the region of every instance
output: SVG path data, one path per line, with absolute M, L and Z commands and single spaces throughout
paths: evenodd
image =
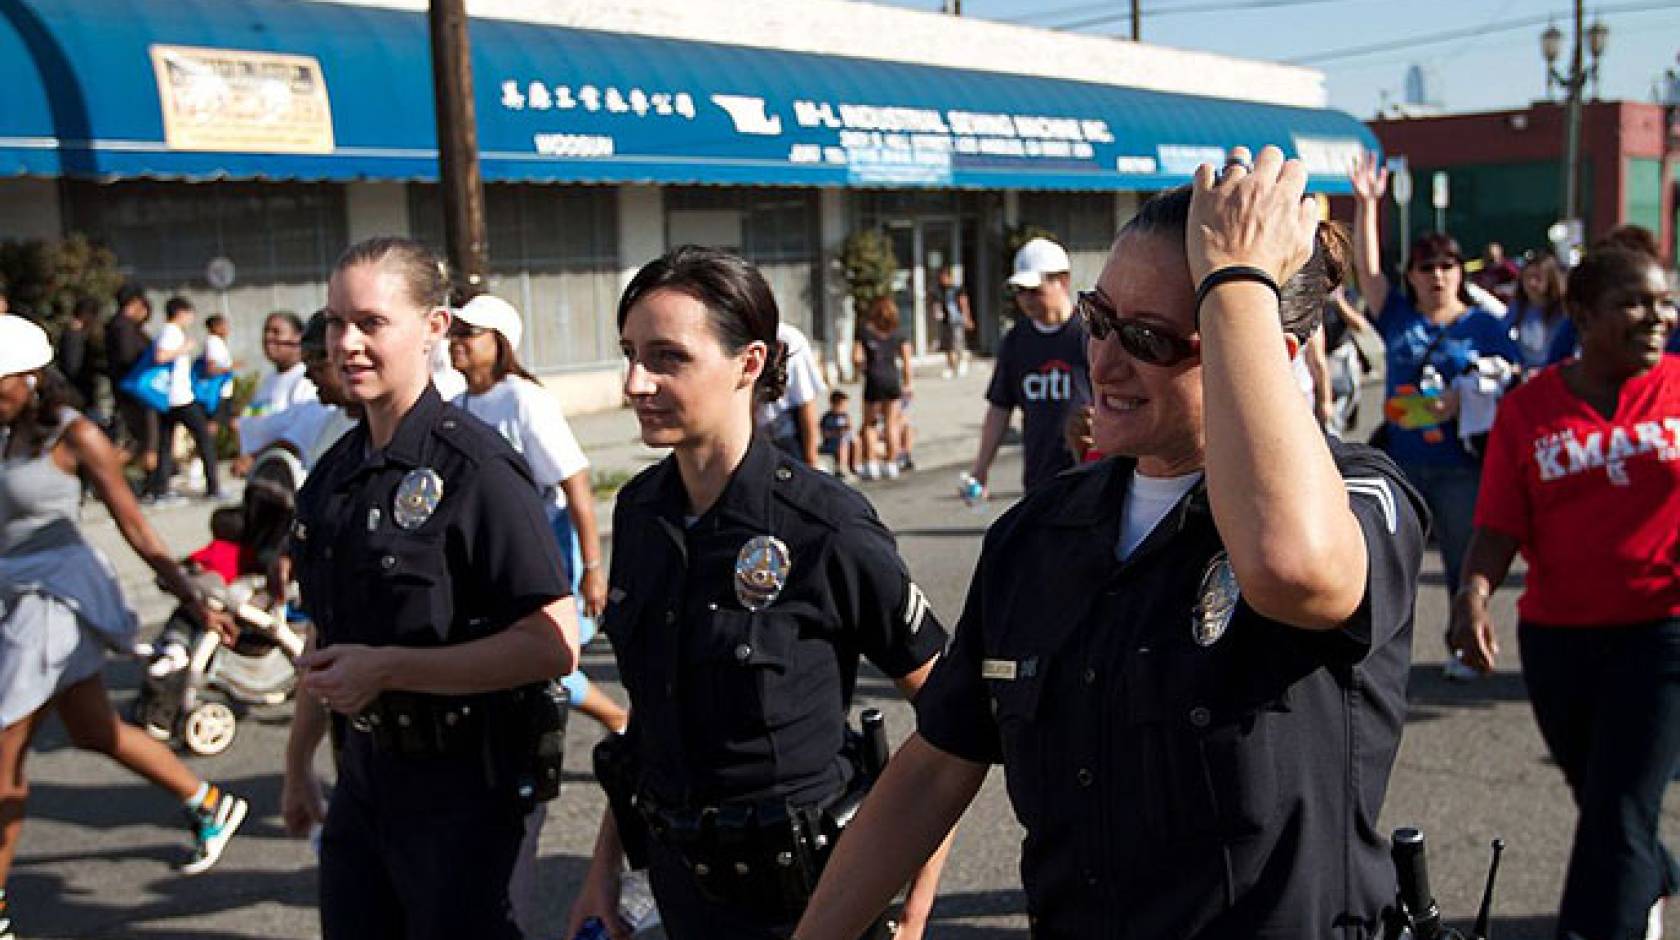
M 1403 384 L 1416 384 L 1425 364 L 1435 366 L 1441 379 L 1452 383 L 1483 356 L 1499 356 L 1512 364 L 1522 363 L 1522 347 L 1510 337 L 1510 329 L 1499 316 L 1482 307 L 1470 307 L 1465 316 L 1445 327 L 1435 326 L 1418 312 L 1399 287 L 1388 292 L 1388 300 L 1376 316 L 1376 329 L 1388 346 L 1388 376 L 1383 388 L 1386 398 L 1393 398 Z M 1425 354 L 1428 354 L 1426 363 Z M 1431 443 L 1425 438 L 1425 428 L 1401 428 L 1389 423 L 1386 450 L 1401 465 L 1475 465 L 1470 452 L 1458 443 L 1458 428 L 1452 421 L 1440 426 L 1438 436 L 1441 440 Z

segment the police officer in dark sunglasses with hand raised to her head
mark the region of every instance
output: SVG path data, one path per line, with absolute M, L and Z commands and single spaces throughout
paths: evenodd
M 1243 154 L 1233 154 L 1243 156 Z M 956 643 L 798 935 L 845 940 L 1001 762 L 1033 937 L 1371 937 L 1423 504 L 1290 358 L 1346 237 L 1267 148 L 1144 205 L 1090 322 L 1110 457 L 986 534 Z

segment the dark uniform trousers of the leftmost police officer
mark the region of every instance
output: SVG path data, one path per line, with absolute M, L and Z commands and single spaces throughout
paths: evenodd
M 521 940 L 509 885 L 533 817 L 474 759 L 396 757 L 346 734 L 321 831 L 323 940 Z

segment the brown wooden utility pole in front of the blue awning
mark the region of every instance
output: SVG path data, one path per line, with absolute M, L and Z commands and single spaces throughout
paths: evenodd
M 430 0 L 432 91 L 437 106 L 437 164 L 444 186 L 444 243 L 455 287 L 484 289 L 484 178 L 479 121 L 472 104 L 472 55 L 465 0 Z

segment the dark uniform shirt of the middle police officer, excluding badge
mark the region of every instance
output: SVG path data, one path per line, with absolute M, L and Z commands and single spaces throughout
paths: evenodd
M 754 436 L 717 504 L 685 525 L 675 460 L 613 510 L 603 628 L 630 693 L 642 789 L 665 806 L 786 799 L 848 779 L 840 750 L 858 656 L 889 676 L 944 650 L 946 631 L 862 495 Z M 781 539 L 786 588 L 763 611 L 736 598 L 736 557 Z

